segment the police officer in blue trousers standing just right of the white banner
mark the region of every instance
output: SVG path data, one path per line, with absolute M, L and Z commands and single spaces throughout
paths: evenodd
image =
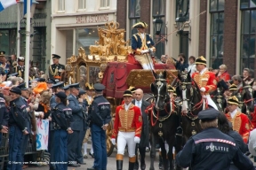
M 72 110 L 67 106 L 67 96 L 60 91 L 55 94 L 56 106 L 52 110 L 51 163 L 56 162 L 55 169 L 68 169 L 68 134 L 72 134 L 70 123 Z M 52 167 L 50 166 L 50 169 Z

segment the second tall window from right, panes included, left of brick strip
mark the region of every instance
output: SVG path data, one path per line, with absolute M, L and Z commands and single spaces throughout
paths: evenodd
M 213 69 L 219 69 L 223 64 L 224 0 L 211 0 L 210 13 L 210 66 Z

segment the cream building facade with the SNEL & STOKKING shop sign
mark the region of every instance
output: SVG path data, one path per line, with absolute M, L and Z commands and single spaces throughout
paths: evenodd
M 60 63 L 78 54 L 83 47 L 99 40 L 97 27 L 116 21 L 116 0 L 56 0 L 52 1 L 51 52 L 61 56 Z

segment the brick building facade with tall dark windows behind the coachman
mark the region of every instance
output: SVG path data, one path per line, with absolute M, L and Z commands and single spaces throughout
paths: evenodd
M 181 28 L 176 22 L 180 14 L 186 19 Z M 225 64 L 232 75 L 241 74 L 245 67 L 256 68 L 254 0 L 118 0 L 116 16 L 127 30 L 126 39 L 136 33 L 135 22 L 148 23 L 157 58 L 184 53 L 188 62 L 190 56 L 204 56 L 209 67 Z M 156 18 L 164 22 L 160 35 L 153 23 Z

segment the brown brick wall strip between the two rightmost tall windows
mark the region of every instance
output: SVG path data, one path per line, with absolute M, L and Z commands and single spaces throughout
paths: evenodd
M 236 74 L 236 35 L 240 34 L 236 34 L 237 0 L 225 1 L 224 12 L 223 64 L 228 66 L 228 73 L 234 75 Z

